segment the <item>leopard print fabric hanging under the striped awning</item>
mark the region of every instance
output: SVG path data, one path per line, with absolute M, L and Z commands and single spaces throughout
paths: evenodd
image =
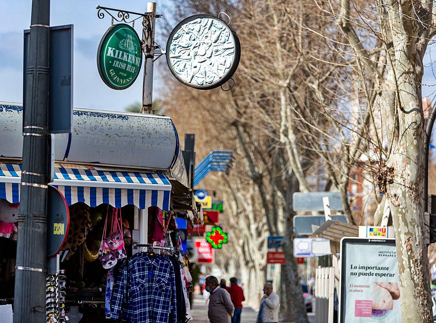
M 78 247 L 85 241 L 86 235 L 92 229 L 91 214 L 89 206 L 85 203 L 75 203 L 69 206 L 70 228 L 67 240 L 62 250 L 69 250 L 65 260 L 68 260 Z

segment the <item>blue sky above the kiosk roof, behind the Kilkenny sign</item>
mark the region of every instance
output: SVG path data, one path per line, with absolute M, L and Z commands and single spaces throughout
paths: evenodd
M 166 14 L 167 1 L 157 0 L 157 14 Z M 125 90 L 113 90 L 99 76 L 96 63 L 97 48 L 106 29 L 111 25 L 108 15 L 97 17 L 95 5 L 120 8 L 134 12 L 146 11 L 146 0 L 52 0 L 50 25 L 74 24 L 74 107 L 123 111 L 135 101 L 142 101 L 142 73 L 136 82 Z M 0 101 L 22 102 L 23 99 L 23 30 L 29 29 L 31 0 L 0 0 L 2 23 L 0 24 Z M 167 36 L 159 33 L 164 19 L 157 19 L 157 38 Z M 175 23 L 174 23 L 175 25 Z M 141 34 L 140 20 L 136 32 Z M 161 28 L 160 28 L 161 27 Z M 173 26 L 171 26 L 173 27 Z M 160 44 L 162 46 L 165 43 Z M 160 60 L 165 59 L 161 57 Z M 153 99 L 159 97 L 162 82 L 159 74 L 154 77 Z

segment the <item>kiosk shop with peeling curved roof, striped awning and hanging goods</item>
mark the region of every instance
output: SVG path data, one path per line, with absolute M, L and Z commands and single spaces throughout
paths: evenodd
M 3 131 L 0 202 L 18 208 L 22 113 L 22 106 L 18 104 L 0 103 L 0 129 Z M 58 275 L 56 282 L 51 282 L 58 288 L 54 290 L 58 292 L 55 300 L 58 304 L 51 304 L 48 319 L 62 322 L 61 312 L 67 315 L 71 312 L 70 322 L 79 316 L 89 316 L 94 322 L 109 317 L 140 322 L 138 314 L 129 310 L 129 306 L 133 306 L 129 302 L 134 300 L 123 299 L 127 306 L 119 309 L 116 305 L 119 294 L 113 301 L 112 289 L 123 288 L 134 299 L 137 290 L 131 289 L 129 283 L 120 285 L 117 275 L 130 275 L 134 263 L 147 263 L 151 259 L 160 261 L 166 276 L 153 269 L 156 279 L 149 276 L 146 290 L 150 295 L 147 297 L 171 291 L 165 294 L 169 298 L 165 301 L 168 311 L 163 317 L 168 314 L 168 321 L 184 322 L 189 317 L 189 302 L 184 296 L 188 298 L 190 273 L 187 258 L 179 251 L 175 217 L 193 220 L 201 217 L 201 208 L 194 202 L 189 188 L 177 130 L 171 119 L 150 114 L 75 109 L 72 133 L 55 134 L 52 138 L 54 172 L 49 185 L 64 196 L 70 223 L 65 245 L 59 252 L 59 272 L 48 272 Z M 122 237 L 118 239 L 124 241 L 125 250 L 121 257 L 113 253 L 118 258 L 114 260 L 118 265 L 113 270 L 105 269 L 103 267 L 108 267 L 111 261 L 103 262 L 105 253 L 101 254 L 99 247 L 102 240 L 115 239 L 116 232 Z M 154 245 L 153 249 L 144 247 L 150 244 Z M 14 240 L 0 237 L 0 280 L 10 286 L 9 292 L 0 295 L 3 303 L 13 302 L 14 248 L 16 250 Z M 155 256 L 155 253 L 162 255 Z M 157 289 L 154 280 L 166 283 Z M 132 286 L 137 283 L 133 278 L 131 282 Z M 150 304 L 143 304 L 143 308 Z M 111 316 L 113 306 L 116 314 Z M 155 321 L 155 315 L 158 314 L 149 314 L 147 321 Z

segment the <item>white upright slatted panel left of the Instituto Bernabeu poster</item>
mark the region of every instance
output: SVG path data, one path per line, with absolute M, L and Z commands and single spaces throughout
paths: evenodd
M 316 323 L 333 323 L 334 267 L 316 269 L 315 297 Z

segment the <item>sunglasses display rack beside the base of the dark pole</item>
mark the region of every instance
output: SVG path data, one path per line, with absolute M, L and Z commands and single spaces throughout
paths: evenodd
M 65 315 L 65 276 L 50 274 L 46 279 L 45 314 L 46 322 L 62 323 L 68 321 Z

